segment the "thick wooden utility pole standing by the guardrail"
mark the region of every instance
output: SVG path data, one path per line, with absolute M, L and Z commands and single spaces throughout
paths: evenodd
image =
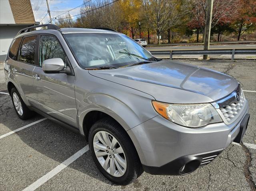
M 212 7 L 213 0 L 207 0 L 207 10 L 206 10 L 206 20 L 205 20 L 205 28 L 204 28 L 204 50 L 210 49 L 210 34 L 211 34 L 211 26 L 212 26 Z M 204 55 L 204 60 L 209 59 L 208 55 Z

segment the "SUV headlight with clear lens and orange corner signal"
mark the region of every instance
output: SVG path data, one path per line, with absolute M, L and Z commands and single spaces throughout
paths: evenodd
M 210 103 L 167 104 L 152 101 L 152 104 L 161 116 L 182 126 L 196 128 L 222 122 L 218 112 Z

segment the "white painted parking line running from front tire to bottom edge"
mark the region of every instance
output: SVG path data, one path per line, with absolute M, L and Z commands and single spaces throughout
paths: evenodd
M 54 169 L 52 169 L 46 175 L 42 176 L 40 179 L 38 179 L 34 183 L 30 184 L 23 191 L 34 191 L 35 189 L 40 187 L 42 184 L 46 183 L 46 181 L 48 181 L 49 179 L 54 177 L 56 174 L 58 174 L 60 171 L 62 171 L 64 168 L 66 168 L 68 165 L 70 165 L 72 162 L 74 162 L 76 159 L 78 159 L 80 156 L 82 156 L 84 153 L 86 153 L 88 150 L 89 150 L 89 146 L 86 145 L 84 148 L 82 148 L 81 150 L 76 152 L 70 158 L 66 159 L 60 165 L 56 166 Z

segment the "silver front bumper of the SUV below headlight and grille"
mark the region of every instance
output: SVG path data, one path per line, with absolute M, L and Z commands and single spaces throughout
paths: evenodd
M 199 167 L 203 163 L 205 154 L 211 155 L 215 152 L 220 154 L 224 148 L 228 147 L 238 136 L 240 124 L 248 110 L 246 100 L 242 114 L 229 125 L 222 122 L 202 128 L 186 128 L 162 116 L 156 116 L 127 132 L 146 172 L 182 175 L 186 173 L 180 173 L 180 167 L 188 161 L 199 161 L 191 163 L 192 166 Z

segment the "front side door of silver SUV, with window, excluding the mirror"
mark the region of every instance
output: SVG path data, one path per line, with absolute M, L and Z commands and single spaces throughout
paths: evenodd
M 51 58 L 61 58 L 65 65 L 71 69 L 72 66 L 54 35 L 42 34 L 39 38 L 38 65 L 33 72 L 37 108 L 76 127 L 75 76 L 64 73 L 46 74 L 42 70 L 42 62 Z

